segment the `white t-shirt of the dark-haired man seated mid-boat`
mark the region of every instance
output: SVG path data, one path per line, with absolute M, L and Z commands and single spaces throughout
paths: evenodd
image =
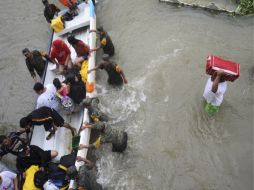
M 46 85 L 46 91 L 37 99 L 36 109 L 47 106 L 55 110 L 59 109 L 59 99 L 56 97 L 56 88 L 53 84 Z

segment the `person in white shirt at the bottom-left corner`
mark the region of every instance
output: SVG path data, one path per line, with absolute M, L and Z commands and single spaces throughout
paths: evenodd
M 0 173 L 0 189 L 18 190 L 17 174 L 11 171 L 2 171 Z

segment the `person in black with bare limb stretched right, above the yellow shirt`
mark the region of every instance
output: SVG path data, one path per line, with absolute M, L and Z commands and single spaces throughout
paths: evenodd
M 43 150 L 36 145 L 28 145 L 19 150 L 17 157 L 17 169 L 25 172 L 30 166 L 38 165 L 41 171 L 45 170 L 52 158 L 58 155 L 56 150 Z

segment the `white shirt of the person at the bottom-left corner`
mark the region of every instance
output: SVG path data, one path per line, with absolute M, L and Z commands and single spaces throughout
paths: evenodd
M 10 171 L 3 171 L 0 173 L 2 177 L 2 184 L 0 190 L 14 190 L 13 180 L 17 177 L 17 174 Z

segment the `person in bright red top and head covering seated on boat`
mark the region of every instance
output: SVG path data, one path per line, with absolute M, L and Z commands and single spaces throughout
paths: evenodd
M 65 74 L 67 69 L 72 68 L 71 51 L 66 43 L 61 39 L 53 41 L 50 58 L 53 63 L 58 62 L 60 74 Z

